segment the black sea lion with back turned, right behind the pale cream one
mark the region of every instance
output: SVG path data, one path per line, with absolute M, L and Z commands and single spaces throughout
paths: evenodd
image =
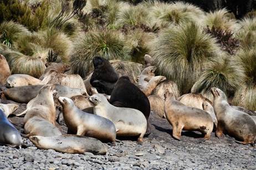
M 121 76 L 111 93 L 109 103 L 115 107 L 133 108 L 140 110 L 148 120 L 150 116 L 150 103 L 146 95 L 135 84 L 130 82 L 128 76 Z M 150 134 L 150 124 L 147 123 L 146 135 Z

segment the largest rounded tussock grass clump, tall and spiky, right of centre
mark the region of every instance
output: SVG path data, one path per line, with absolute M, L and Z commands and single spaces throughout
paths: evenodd
M 222 54 L 216 40 L 194 23 L 163 30 L 151 49 L 158 74 L 177 83 L 182 94 L 190 93 L 207 63 Z

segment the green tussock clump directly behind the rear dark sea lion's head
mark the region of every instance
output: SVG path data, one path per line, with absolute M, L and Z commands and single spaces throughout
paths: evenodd
M 71 57 L 71 68 L 81 77 L 93 69 L 93 57 L 101 56 L 107 60 L 127 59 L 128 51 L 118 31 L 92 30 L 79 35 L 74 42 L 74 55 Z

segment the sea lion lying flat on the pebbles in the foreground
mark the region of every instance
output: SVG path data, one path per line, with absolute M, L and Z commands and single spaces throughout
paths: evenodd
M 92 137 L 78 135 L 62 135 L 55 137 L 30 136 L 29 140 L 42 150 L 55 150 L 62 153 L 91 152 L 95 155 L 105 155 L 106 147 L 104 144 Z

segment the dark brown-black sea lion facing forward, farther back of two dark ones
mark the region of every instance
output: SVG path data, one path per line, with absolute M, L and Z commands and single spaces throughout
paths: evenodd
M 91 86 L 95 87 L 99 93 L 110 95 L 118 75 L 110 62 L 103 57 L 93 58 L 94 71 L 90 78 Z

